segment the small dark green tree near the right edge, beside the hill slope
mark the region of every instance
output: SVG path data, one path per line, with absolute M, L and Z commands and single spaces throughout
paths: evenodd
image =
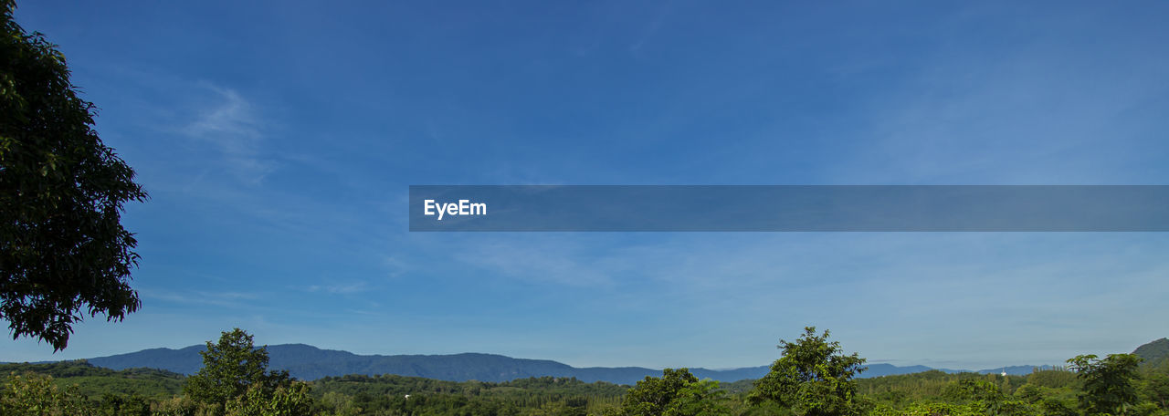
M 1136 369 L 1141 358 L 1133 354 L 1077 355 L 1067 360 L 1084 381 L 1080 409 L 1085 414 L 1126 415 L 1137 404 Z

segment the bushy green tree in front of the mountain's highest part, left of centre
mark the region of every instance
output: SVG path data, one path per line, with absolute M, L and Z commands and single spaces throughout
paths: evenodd
M 268 369 L 268 348 L 256 348 L 253 338 L 240 328 L 223 332 L 217 344 L 207 341 L 203 368 L 187 379 L 182 391 L 192 400 L 205 404 L 226 405 L 248 394 L 248 397 L 271 397 L 278 388 L 290 388 L 292 379 L 288 372 Z

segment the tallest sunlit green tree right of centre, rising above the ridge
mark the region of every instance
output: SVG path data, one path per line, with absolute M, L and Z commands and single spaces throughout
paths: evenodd
M 750 401 L 774 401 L 796 415 L 860 414 L 863 407 L 852 377 L 866 369 L 865 359 L 856 353 L 844 355 L 841 342 L 829 342 L 828 335 L 826 330 L 817 335 L 816 327 L 809 326 L 795 342 L 780 340 L 783 356 L 755 381 Z

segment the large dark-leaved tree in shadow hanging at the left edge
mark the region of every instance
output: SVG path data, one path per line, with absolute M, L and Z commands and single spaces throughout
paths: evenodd
M 15 8 L 0 0 L 0 319 L 56 352 L 83 308 L 120 321 L 140 306 L 137 241 L 120 221 L 146 193 L 94 131 L 64 55 L 26 34 Z

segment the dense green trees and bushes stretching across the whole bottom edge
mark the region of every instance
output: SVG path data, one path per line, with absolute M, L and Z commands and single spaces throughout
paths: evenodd
M 0 415 L 1169 415 L 1169 360 L 1154 354 L 1160 348 L 1080 355 L 1026 376 L 931 370 L 855 379 L 864 359 L 843 354 L 828 335 L 808 328 L 781 341 L 781 358 L 760 380 L 720 384 L 680 368 L 621 386 L 552 376 L 299 382 L 268 372 L 267 352 L 236 330 L 208 342 L 203 368 L 189 377 L 85 361 L 0 365 Z

